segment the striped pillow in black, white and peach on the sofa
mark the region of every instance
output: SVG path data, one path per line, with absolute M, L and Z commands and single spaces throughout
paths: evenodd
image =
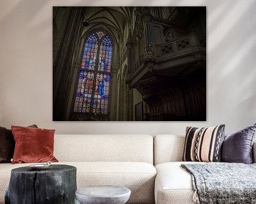
M 183 161 L 220 162 L 220 146 L 225 135 L 225 125 L 210 128 L 186 128 Z

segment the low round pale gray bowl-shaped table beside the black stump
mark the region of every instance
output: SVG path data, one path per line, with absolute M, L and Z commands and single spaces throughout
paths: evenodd
M 88 186 L 79 188 L 75 195 L 81 204 L 124 204 L 131 190 L 121 186 Z

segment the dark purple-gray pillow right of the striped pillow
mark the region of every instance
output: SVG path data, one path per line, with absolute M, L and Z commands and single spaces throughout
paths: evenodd
M 225 135 L 222 145 L 221 162 L 252 163 L 252 142 L 256 124 L 230 135 Z

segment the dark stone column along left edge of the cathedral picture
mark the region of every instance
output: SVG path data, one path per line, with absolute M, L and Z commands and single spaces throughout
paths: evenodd
M 71 8 L 65 25 L 63 42 L 61 42 L 59 49 L 60 52 L 56 56 L 55 64 L 53 64 L 53 120 L 55 121 L 67 119 L 65 112 L 68 106 L 70 83 L 74 74 L 73 55 L 78 42 L 81 23 L 82 7 Z

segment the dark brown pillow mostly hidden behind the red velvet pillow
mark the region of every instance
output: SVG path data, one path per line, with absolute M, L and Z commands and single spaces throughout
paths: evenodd
M 37 128 L 36 125 L 28 127 Z M 0 163 L 11 163 L 14 156 L 14 135 L 11 130 L 0 127 Z

